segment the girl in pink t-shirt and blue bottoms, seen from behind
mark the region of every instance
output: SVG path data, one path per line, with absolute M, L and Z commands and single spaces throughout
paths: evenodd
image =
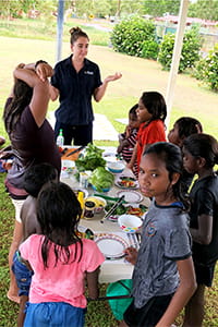
M 84 326 L 85 284 L 98 296 L 99 266 L 104 255 L 92 240 L 81 240 L 80 203 L 64 183 L 49 182 L 37 199 L 43 234 L 32 234 L 20 245 L 21 256 L 34 270 L 24 327 Z

